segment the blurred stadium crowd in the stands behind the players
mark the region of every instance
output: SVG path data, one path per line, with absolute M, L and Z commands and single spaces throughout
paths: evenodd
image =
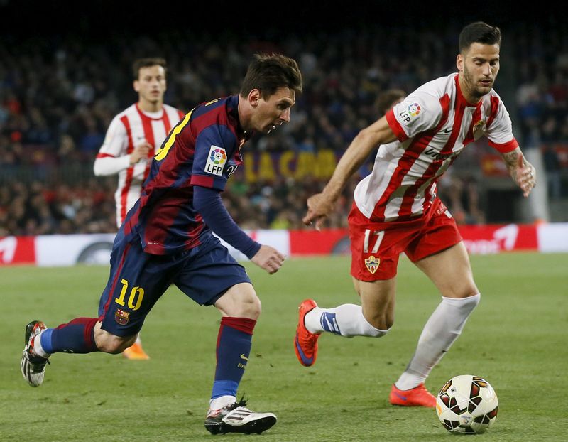
M 241 73 L 257 51 L 283 52 L 298 60 L 305 92 L 289 124 L 270 137 L 253 136 L 246 144 L 245 165 L 253 166 L 239 168 L 229 180 L 224 201 L 242 227 L 304 228 L 305 200 L 328 178 L 322 176 L 322 167 L 318 169 L 324 161 L 320 153 L 331 151 L 339 158 L 359 129 L 376 119 L 381 92 L 410 92 L 454 72 L 448 60 L 457 53 L 459 26 L 448 23 L 429 30 L 415 24 L 416 38 L 409 38 L 405 28 L 390 26 L 248 40 L 192 38 L 176 31 L 153 37 L 109 36 L 104 44 L 4 36 L 0 236 L 116 231 L 116 177 L 94 177 L 92 164 L 114 114 L 136 100 L 131 77 L 135 58 L 160 56 L 168 61 L 165 102 L 187 112 L 209 97 L 238 92 Z M 517 137 L 523 149 L 543 150 L 552 177 L 550 195 L 560 198 L 562 164 L 554 146 L 568 143 L 567 33 L 553 18 L 546 33 L 526 23 L 504 33 L 502 56 L 508 54 L 510 60 L 496 89 L 501 96 L 515 98 L 505 102 Z M 476 153 L 486 146 L 468 149 L 439 191 L 458 222 L 482 223 Z M 288 173 L 278 167 L 268 176 L 261 173 L 266 165 L 261 158 L 277 164 L 288 152 L 295 155 Z M 306 173 L 298 172 L 300 156 Z M 358 180 L 354 177 L 353 185 Z M 345 227 L 352 190 L 346 188 L 330 227 Z

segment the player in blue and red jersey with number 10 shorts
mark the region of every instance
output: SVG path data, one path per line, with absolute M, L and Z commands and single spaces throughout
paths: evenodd
M 26 326 L 21 371 L 28 384 L 43 382 L 55 352 L 122 352 L 175 284 L 195 302 L 222 313 L 207 430 L 261 433 L 275 424 L 274 414 L 253 412 L 242 399 L 236 401 L 261 302 L 244 267 L 213 232 L 269 274 L 282 266 L 278 250 L 258 244 L 236 225 L 220 193 L 242 162 L 244 143 L 254 131 L 268 134 L 289 122 L 301 92 L 295 60 L 257 54 L 239 95 L 199 104 L 178 122 L 155 153 L 141 197 L 116 235 L 99 316 L 58 328 L 37 320 Z

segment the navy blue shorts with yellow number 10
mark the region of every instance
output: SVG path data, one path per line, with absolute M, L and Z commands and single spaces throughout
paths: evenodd
M 185 252 L 153 255 L 143 252 L 139 241 L 127 242 L 119 232 L 109 281 L 99 302 L 99 320 L 102 329 L 113 335 L 135 335 L 171 284 L 196 303 L 211 306 L 242 282 L 250 283 L 249 275 L 217 237 Z

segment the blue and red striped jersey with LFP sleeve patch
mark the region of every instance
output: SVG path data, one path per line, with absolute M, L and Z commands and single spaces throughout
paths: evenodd
M 139 238 L 147 253 L 170 254 L 212 235 L 193 207 L 193 186 L 222 191 L 241 164 L 251 134 L 239 124 L 238 105 L 238 95 L 202 103 L 170 131 L 124 221 L 127 239 Z

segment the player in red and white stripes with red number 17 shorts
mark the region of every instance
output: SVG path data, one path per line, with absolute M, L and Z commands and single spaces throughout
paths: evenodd
M 535 168 L 520 151 L 508 112 L 492 88 L 500 46 L 499 28 L 482 22 L 465 26 L 459 36 L 459 72 L 427 82 L 361 130 L 322 193 L 307 200 L 304 222 L 315 222 L 319 230 L 349 177 L 380 145 L 372 173 L 356 187 L 349 214 L 351 275 L 361 306 L 320 308 L 312 299 L 303 301 L 294 343 L 302 365 L 314 364 L 321 333 L 376 338 L 388 333 L 398 258 L 405 252 L 441 292 L 442 302 L 391 387 L 390 401 L 435 406 L 425 379 L 480 298 L 456 222 L 436 196 L 436 182 L 464 146 L 486 136 L 525 197 L 535 185 Z

